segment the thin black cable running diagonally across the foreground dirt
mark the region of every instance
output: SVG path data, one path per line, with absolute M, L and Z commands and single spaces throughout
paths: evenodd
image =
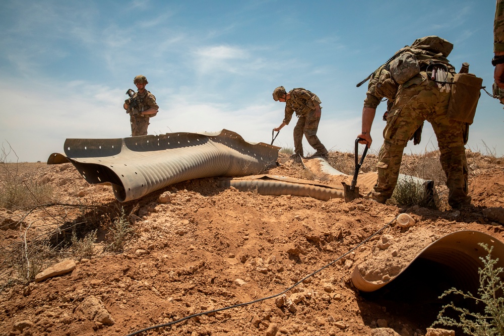
M 280 296 L 288 291 L 290 291 L 291 289 L 293 289 L 294 287 L 296 287 L 297 285 L 299 285 L 300 283 L 302 283 L 303 281 L 305 281 L 306 279 L 316 275 L 317 273 L 321 272 L 322 270 L 324 270 L 325 268 L 331 266 L 332 264 L 334 264 L 336 261 L 340 260 L 341 258 L 343 258 L 344 256 L 352 253 L 354 250 L 356 250 L 359 246 L 363 245 L 364 243 L 366 243 L 367 241 L 369 241 L 372 237 L 374 237 L 375 235 L 379 234 L 380 232 L 382 232 L 383 230 L 385 230 L 390 224 L 392 224 L 392 222 L 394 222 L 395 220 L 397 219 L 397 216 L 396 218 L 392 219 L 389 223 L 385 224 L 384 227 L 382 227 L 380 230 L 376 231 L 375 233 L 373 233 L 372 235 L 370 235 L 369 237 L 367 237 L 366 239 L 364 239 L 363 241 L 361 241 L 357 246 L 355 246 L 354 248 L 352 248 L 351 250 L 349 250 L 348 252 L 346 252 L 345 254 L 343 254 L 342 256 L 340 256 L 338 259 L 335 259 L 333 261 L 331 261 L 330 263 L 328 263 L 327 265 L 323 266 L 322 268 L 319 268 L 319 270 L 307 275 L 306 277 L 304 277 L 303 279 L 299 280 L 297 283 L 295 283 L 294 285 L 292 285 L 291 287 L 287 288 L 286 290 L 284 290 L 283 292 L 280 292 L 278 294 L 275 294 L 275 295 L 272 295 L 272 296 L 268 296 L 268 297 L 265 297 L 265 298 L 261 298 L 261 299 L 257 299 L 257 300 L 254 300 L 254 301 L 250 301 L 250 302 L 245 302 L 245 303 L 238 303 L 238 304 L 235 304 L 235 305 L 232 305 L 232 306 L 228 306 L 228 307 L 224 307 L 224 308 L 218 308 L 218 309 L 214 309 L 214 310 L 209 310 L 209 311 L 203 311 L 201 313 L 197 313 L 197 314 L 193 314 L 193 315 L 189 315 L 189 316 L 185 316 L 183 318 L 180 318 L 176 321 L 172 321 L 172 322 L 169 322 L 169 323 L 163 323 L 163 324 L 158 324 L 158 325 L 154 325 L 154 326 L 150 326 L 148 328 L 145 328 L 145 329 L 142 329 L 142 330 L 138 330 L 138 331 L 135 331 L 133 333 L 129 333 L 128 335 L 126 336 L 134 336 L 134 335 L 138 335 L 139 333 L 141 332 L 144 332 L 144 331 L 149 331 L 149 330 L 152 330 L 152 329 L 156 329 L 156 328 L 163 328 L 163 327 L 167 327 L 167 326 L 170 326 L 172 324 L 175 324 L 175 323 L 179 323 L 179 322 L 182 322 L 182 321 L 185 321 L 187 319 L 190 319 L 190 318 L 193 318 L 193 317 L 196 317 L 196 316 L 201 316 L 201 315 L 206 315 L 206 314 L 211 314 L 211 313 L 216 313 L 218 311 L 222 311 L 222 310 L 227 310 L 227 309 L 232 309 L 232 308 L 237 308 L 237 307 L 241 307 L 241 306 L 247 306 L 247 305 L 250 305 L 250 304 L 253 304 L 253 303 L 257 303 L 257 302 L 261 302 L 261 301 L 264 301 L 264 300 L 268 300 L 268 299 L 273 299 L 277 296 Z

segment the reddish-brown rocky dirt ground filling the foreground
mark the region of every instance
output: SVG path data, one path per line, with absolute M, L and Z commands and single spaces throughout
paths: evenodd
M 331 153 L 332 159 L 338 154 Z M 405 166 L 408 160 L 418 158 L 405 156 Z M 339 198 L 322 201 L 239 192 L 218 187 L 214 178 L 185 181 L 119 204 L 110 186 L 89 185 L 71 164 L 26 164 L 18 167 L 19 176 L 52 186 L 59 204 L 67 206 L 0 210 L 0 243 L 5 251 L 13 244 L 28 248 L 30 239 L 61 230 L 54 223 L 77 226 L 77 219 L 87 216 L 96 218 L 95 226 L 81 230 L 100 229 L 100 221 L 121 206 L 135 210 L 137 234 L 123 253 L 111 254 L 103 252 L 98 230 L 92 258 L 75 260 L 71 273 L 41 282 L 22 282 L 12 271 L 16 265 L 7 265 L 9 256 L 3 255 L 0 330 L 6 335 L 124 335 L 259 300 L 148 334 L 370 335 L 387 326 L 401 335 L 424 335 L 439 308 L 432 301 L 443 288 L 434 291 L 431 279 L 426 284 L 431 296 L 412 305 L 404 297 L 391 300 L 387 293 L 359 293 L 351 272 L 362 264 L 369 279 L 378 277 L 376 270 L 394 276 L 422 246 L 459 230 L 478 230 L 503 241 L 502 163 L 477 153 L 468 160 L 475 207 L 444 212 L 418 206 L 401 209 L 368 199 L 344 203 Z M 287 155 L 280 155 L 279 162 L 268 174 L 341 184 L 341 178 L 308 174 Z M 374 235 L 401 212 L 410 214 L 416 225 L 406 229 L 389 225 Z M 393 246 L 389 251 L 396 253 L 370 265 L 384 236 Z M 23 260 L 23 249 L 19 253 Z M 260 300 L 297 282 L 282 295 Z

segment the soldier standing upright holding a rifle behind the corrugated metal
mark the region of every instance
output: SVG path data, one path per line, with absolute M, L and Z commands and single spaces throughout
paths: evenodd
M 146 136 L 149 118 L 157 114 L 159 106 L 156 104 L 156 97 L 145 89 L 149 84 L 145 76 L 135 77 L 133 83 L 137 86 L 138 92 L 133 97 L 124 101 L 124 109 L 130 114 L 132 137 Z

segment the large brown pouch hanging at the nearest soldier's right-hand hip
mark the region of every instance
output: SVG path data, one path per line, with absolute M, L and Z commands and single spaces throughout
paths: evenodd
M 481 96 L 483 79 L 473 74 L 455 74 L 448 105 L 448 118 L 472 124 Z

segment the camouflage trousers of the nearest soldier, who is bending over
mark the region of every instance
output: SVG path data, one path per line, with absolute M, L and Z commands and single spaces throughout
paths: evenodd
M 373 199 L 384 203 L 397 184 L 403 150 L 415 130 L 427 120 L 437 138 L 441 166 L 447 177 L 448 203 L 468 205 L 468 168 L 464 148 L 466 124 L 448 119 L 450 92 L 440 92 L 437 84 L 423 80 L 419 85 L 400 87 L 384 129 L 384 144 L 378 157 L 378 180 Z

